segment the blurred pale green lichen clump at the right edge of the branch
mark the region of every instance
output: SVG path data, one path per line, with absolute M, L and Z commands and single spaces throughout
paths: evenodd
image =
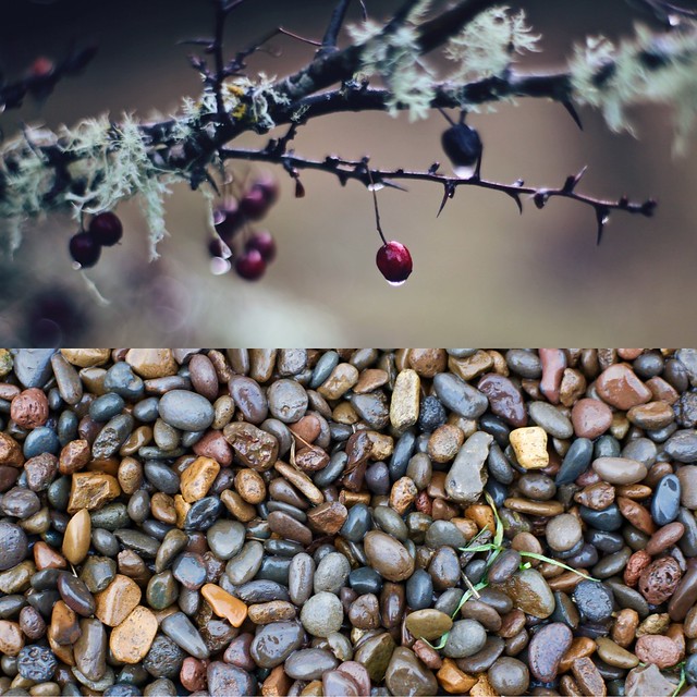
M 633 131 L 629 107 L 670 105 L 674 148 L 685 149 L 697 119 L 697 24 L 663 35 L 637 26 L 635 37 L 619 45 L 588 39 L 575 47 L 570 71 L 574 99 L 600 109 L 613 131 Z

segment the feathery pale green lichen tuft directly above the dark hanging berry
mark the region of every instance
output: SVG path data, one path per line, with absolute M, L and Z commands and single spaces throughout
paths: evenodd
M 445 45 L 445 57 L 457 63 L 450 80 L 501 75 L 516 54 L 538 50 L 539 39 L 531 34 L 523 11 L 499 7 L 481 12 Z

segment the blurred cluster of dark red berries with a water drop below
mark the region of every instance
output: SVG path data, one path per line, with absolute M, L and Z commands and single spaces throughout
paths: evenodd
M 276 258 L 276 242 L 267 230 L 249 231 L 248 223 L 261 220 L 279 197 L 279 185 L 270 174 L 260 174 L 237 199 L 225 197 L 213 211 L 217 236 L 209 245 L 211 269 L 220 273 L 234 268 L 240 278 L 256 281 Z M 245 231 L 243 240 L 239 233 Z M 233 260 L 234 258 L 234 260 Z

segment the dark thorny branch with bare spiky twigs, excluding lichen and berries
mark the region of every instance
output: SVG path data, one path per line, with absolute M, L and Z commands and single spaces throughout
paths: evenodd
M 659 23 L 664 23 L 668 27 L 674 27 L 683 21 L 692 20 L 690 11 L 664 0 L 628 1 L 639 5 L 644 11 L 649 11 Z M 501 192 L 513 198 L 518 209 L 522 209 L 523 197 L 530 197 L 538 208 L 542 208 L 550 198 L 567 198 L 594 209 L 598 225 L 598 241 L 601 239 L 608 216 L 613 210 L 647 217 L 653 213 L 656 203 L 651 199 L 636 203 L 623 196 L 616 200 L 604 200 L 578 193 L 576 186 L 585 170 L 577 175 L 568 176 L 560 187 L 543 187 L 525 185 L 522 180 L 505 184 L 479 176 L 456 179 L 439 173 L 438 164 L 427 171 L 384 170 L 370 167 L 368 158 L 359 160 L 344 160 L 333 156 L 323 160 L 303 158 L 288 148 L 298 125 L 332 113 L 387 111 L 390 105 L 396 109 L 407 108 L 407 105 L 401 102 L 391 103 L 393 95 L 389 88 L 371 87 L 367 82 L 358 83 L 355 81 L 355 75 L 360 70 L 367 41 L 389 44 L 391 38 L 409 23 L 411 13 L 419 3 L 416 0 L 404 0 L 401 8 L 377 36 L 365 42 L 353 42 L 340 48 L 339 36 L 350 10 L 351 0 L 337 0 L 321 41 L 304 39 L 288 29 L 277 27 L 247 48 L 237 51 L 225 62 L 223 45 L 225 23 L 231 13 L 245 0 L 212 0 L 212 2 L 215 9 L 213 36 L 211 38 L 196 38 L 186 42 L 201 47 L 204 53 L 212 58 L 211 68 L 203 57 L 191 57 L 191 62 L 204 80 L 204 95 L 208 94 L 215 97 L 215 111 L 201 113 L 196 130 L 184 139 L 181 136 L 181 124 L 176 119 L 138 125 L 143 145 L 147 149 L 147 157 L 157 175 L 172 173 L 179 179 L 187 179 L 192 187 L 196 188 L 204 182 L 212 182 L 208 172 L 210 166 L 222 160 L 241 159 L 282 166 L 296 180 L 298 189 L 301 188 L 298 172 L 308 169 L 333 174 L 342 184 L 354 180 L 365 186 L 382 184 L 400 188 L 398 184 L 400 181 L 431 182 L 443 187 L 441 209 L 448 199 L 454 196 L 460 186 L 476 186 Z M 365 16 L 363 0 L 358 0 L 358 3 Z M 457 0 L 448 9 L 436 12 L 435 16 L 425 20 L 414 28 L 417 53 L 423 56 L 443 46 L 493 4 L 492 0 Z M 279 34 L 319 47 L 308 64 L 302 70 L 268 86 L 268 94 L 273 95 L 273 99 L 267 101 L 268 123 L 273 126 L 291 125 L 291 129 L 285 136 L 273 139 L 269 146 L 262 149 L 230 147 L 229 144 L 242 133 L 249 131 L 266 133 L 271 127 L 255 121 L 249 115 L 253 113 L 254 101 L 252 90 L 241 97 L 240 105 L 243 108 L 239 114 L 231 113 L 227 108 L 224 90 L 229 87 L 227 82 L 229 78 L 246 77 L 244 72 L 246 59 Z M 85 49 L 74 53 L 41 80 L 52 86 L 60 76 L 72 74 L 88 62 L 93 53 L 94 49 Z M 655 53 L 639 56 L 639 60 L 646 60 L 647 71 L 660 66 L 660 54 L 657 58 Z M 596 72 L 590 75 L 591 82 L 602 86 L 603 81 L 613 74 L 615 68 L 612 59 L 608 58 L 594 69 Z M 0 85 L 0 106 L 3 103 L 4 108 L 19 106 L 22 97 L 30 90 L 32 86 L 32 78 L 22 83 Z M 235 88 L 239 89 L 239 87 Z M 442 82 L 433 85 L 429 107 L 431 109 L 462 109 L 463 105 L 477 106 L 515 97 L 545 98 L 557 101 L 565 107 L 576 123 L 580 125 L 574 107 L 577 95 L 574 94 L 573 76 L 568 70 L 531 74 L 516 72 L 509 66 L 503 72 L 490 77 L 470 82 Z M 113 124 L 109 131 L 109 138 L 110 143 L 113 143 L 114 149 L 119 147 L 119 133 L 118 124 Z M 89 157 L 89 155 L 76 155 L 65 147 L 60 138 L 47 144 L 32 142 L 27 136 L 27 146 L 32 152 L 40 155 L 46 167 L 53 171 L 51 186 L 44 194 L 42 204 L 47 209 L 57 208 L 61 204 L 63 206 L 70 205 L 70 201 L 75 200 L 76 191 L 78 192 L 81 186 L 80 182 L 71 178 L 70 166 L 80 157 Z M 20 162 L 13 161 L 13 157 L 16 155 L 10 154 L 4 157 L 3 163 L 0 162 L 0 166 L 4 164 L 4 171 L 10 174 L 20 167 Z M 0 205 L 4 197 L 11 195 L 11 189 L 5 186 L 3 176 L 5 175 L 0 167 Z

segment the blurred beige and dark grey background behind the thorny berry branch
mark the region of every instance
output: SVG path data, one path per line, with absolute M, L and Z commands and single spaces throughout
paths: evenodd
M 395 0 L 366 0 L 382 20 Z M 5 137 L 22 122 L 49 126 L 123 111 L 143 119 L 172 113 L 196 96 L 198 75 L 178 41 L 210 32 L 205 0 L 4 0 L 0 61 L 8 78 L 37 56 L 59 59 L 71 41 L 95 40 L 99 53 L 80 77 L 59 84 L 44 105 L 27 101 L 0 115 Z M 529 0 L 525 9 L 542 34 L 543 53 L 519 68 L 559 65 L 575 40 L 628 34 L 639 19 L 622 0 Z M 321 38 L 331 0 L 250 0 L 227 32 L 234 51 L 282 25 Z M 358 20 L 357 3 L 351 21 Z M 343 37 L 345 41 L 345 36 Z M 282 75 L 302 66 L 314 48 L 281 37 L 280 56 L 259 53 L 255 71 Z M 88 272 L 110 304 L 98 305 L 71 267 L 68 218 L 50 217 L 27 230 L 14 262 L 0 261 L 0 340 L 5 344 L 108 345 L 687 345 L 697 343 L 697 168 L 695 144 L 671 156 L 670 114 L 635 111 L 638 139 L 612 134 L 600 114 L 580 110 L 580 132 L 552 102 L 519 100 L 496 113 L 473 115 L 485 143 L 482 174 L 512 182 L 559 185 L 584 164 L 580 191 L 616 198 L 659 200 L 652 219 L 615 215 L 600 247 L 592 209 L 553 200 L 530 201 L 519 216 L 506 196 L 463 187 L 440 218 L 440 187 L 414 183 L 408 193 L 379 192 L 388 237 L 406 244 L 414 273 L 389 286 L 375 266 L 379 239 L 372 201 L 357 183 L 305 172 L 306 196 L 280 169 L 281 198 L 260 227 L 277 241 L 278 257 L 250 283 L 209 270 L 204 198 L 175 187 L 167 201 L 171 234 L 161 259 L 147 262 L 145 223 L 136 201 L 121 205 L 124 241 L 105 249 Z M 370 155 L 379 167 L 427 169 L 447 160 L 444 120 L 409 124 L 405 115 L 342 114 L 310 122 L 295 140 L 298 152 L 346 158 Z M 239 145 L 261 146 L 245 136 Z M 268 168 L 265 168 L 268 169 Z M 248 166 L 235 169 L 241 175 Z

